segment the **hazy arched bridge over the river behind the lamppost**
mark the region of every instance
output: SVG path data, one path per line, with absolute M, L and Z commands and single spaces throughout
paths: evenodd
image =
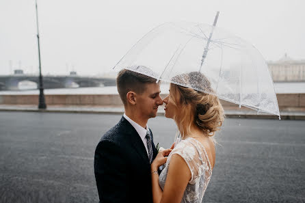
M 0 76 L 0 90 L 19 90 L 19 83 L 31 81 L 39 87 L 38 75 L 3 75 Z M 77 84 L 78 87 L 99 87 L 116 85 L 116 79 L 103 77 L 83 77 L 79 75 L 55 76 L 47 75 L 43 77 L 44 89 L 69 88 Z

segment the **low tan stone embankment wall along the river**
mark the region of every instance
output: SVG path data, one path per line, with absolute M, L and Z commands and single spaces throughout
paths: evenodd
M 161 95 L 162 98 L 165 95 Z M 305 94 L 277 94 L 280 109 L 305 108 Z M 47 105 L 121 106 L 118 94 L 45 95 Z M 37 105 L 38 95 L 0 95 L 0 105 Z M 224 108 L 238 107 L 222 100 Z

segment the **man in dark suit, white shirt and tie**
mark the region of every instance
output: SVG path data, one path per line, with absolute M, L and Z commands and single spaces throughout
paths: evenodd
M 94 154 L 101 203 L 152 202 L 150 163 L 157 150 L 147 122 L 163 103 L 156 81 L 131 70 L 118 73 L 116 85 L 125 113 L 103 135 Z

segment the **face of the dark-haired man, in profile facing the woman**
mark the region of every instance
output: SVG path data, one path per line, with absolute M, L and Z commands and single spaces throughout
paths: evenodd
M 143 116 L 156 117 L 158 107 L 162 104 L 159 83 L 146 83 L 145 91 L 142 94 L 137 94 L 137 109 Z

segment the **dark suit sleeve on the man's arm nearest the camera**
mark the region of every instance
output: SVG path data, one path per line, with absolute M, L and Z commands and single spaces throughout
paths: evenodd
M 128 202 L 127 165 L 113 141 L 102 140 L 96 147 L 94 174 L 101 203 Z

